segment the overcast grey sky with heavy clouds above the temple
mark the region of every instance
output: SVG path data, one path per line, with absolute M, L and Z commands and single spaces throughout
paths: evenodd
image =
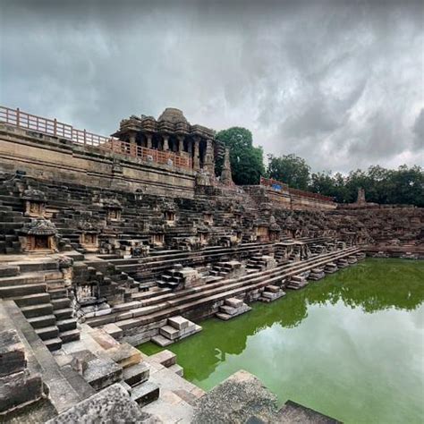
M 101 134 L 174 106 L 314 171 L 423 164 L 422 2 L 0 6 L 4 106 Z

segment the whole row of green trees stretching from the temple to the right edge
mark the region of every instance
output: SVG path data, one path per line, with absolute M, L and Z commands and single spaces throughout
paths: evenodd
M 295 189 L 312 191 L 334 197 L 339 203 L 356 200 L 358 188 L 365 190 L 369 202 L 380 204 L 407 204 L 424 207 L 424 172 L 414 165 L 386 169 L 379 165 L 369 169 L 340 173 L 311 173 L 310 165 L 295 155 L 276 157 L 268 155 L 264 166 L 263 149 L 254 147 L 251 132 L 233 127 L 219 131 L 216 139 L 230 148 L 233 181 L 236 184 L 259 184 L 261 175 L 287 183 Z M 222 161 L 217 161 L 216 174 L 220 173 Z

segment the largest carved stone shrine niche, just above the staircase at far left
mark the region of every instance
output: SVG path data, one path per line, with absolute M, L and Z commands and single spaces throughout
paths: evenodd
M 33 219 L 21 230 L 21 246 L 27 252 L 53 252 L 57 250 L 55 225 L 44 218 Z

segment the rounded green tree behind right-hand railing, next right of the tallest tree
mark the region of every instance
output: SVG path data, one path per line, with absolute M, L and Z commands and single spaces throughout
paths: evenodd
M 268 155 L 268 174 L 294 189 L 307 190 L 310 183 L 310 166 L 305 159 L 292 154 L 275 157 Z

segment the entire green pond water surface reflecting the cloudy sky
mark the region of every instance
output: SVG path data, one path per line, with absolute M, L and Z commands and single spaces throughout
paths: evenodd
M 168 346 L 206 390 L 238 369 L 344 422 L 424 421 L 424 261 L 367 259 Z M 153 343 L 140 346 L 158 352 Z

